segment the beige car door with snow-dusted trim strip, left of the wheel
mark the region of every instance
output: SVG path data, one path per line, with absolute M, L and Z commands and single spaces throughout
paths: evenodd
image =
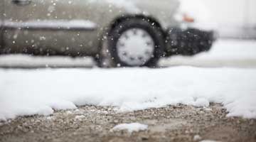
M 4 0 L 9 53 L 92 55 L 97 51 L 93 5 L 86 0 Z M 96 6 L 96 5 L 95 5 Z

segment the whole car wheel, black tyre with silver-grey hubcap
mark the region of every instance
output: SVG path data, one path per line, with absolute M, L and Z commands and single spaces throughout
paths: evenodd
M 118 23 L 107 39 L 107 51 L 114 67 L 156 67 L 164 54 L 161 28 L 141 18 Z

